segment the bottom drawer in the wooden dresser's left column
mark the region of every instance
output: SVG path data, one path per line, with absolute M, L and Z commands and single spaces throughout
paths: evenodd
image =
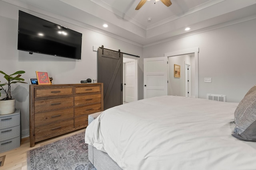
M 50 137 L 58 136 L 74 128 L 74 119 L 57 121 L 47 125 L 35 127 L 35 141 L 41 141 Z M 39 140 L 37 140 L 39 139 Z

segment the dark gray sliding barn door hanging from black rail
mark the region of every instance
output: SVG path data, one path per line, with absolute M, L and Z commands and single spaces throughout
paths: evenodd
M 98 48 L 98 82 L 103 83 L 104 110 L 123 104 L 123 54 Z

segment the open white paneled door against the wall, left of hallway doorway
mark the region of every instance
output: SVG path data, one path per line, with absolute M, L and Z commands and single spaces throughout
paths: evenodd
M 144 59 L 144 99 L 168 95 L 168 59 Z

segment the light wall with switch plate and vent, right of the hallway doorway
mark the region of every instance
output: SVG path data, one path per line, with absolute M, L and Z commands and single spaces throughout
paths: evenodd
M 143 57 L 163 57 L 164 53 L 199 47 L 199 98 L 206 98 L 208 93 L 222 94 L 227 102 L 240 102 L 256 84 L 255 30 L 256 19 L 217 25 L 144 47 Z M 212 83 L 205 83 L 204 78 L 212 78 Z

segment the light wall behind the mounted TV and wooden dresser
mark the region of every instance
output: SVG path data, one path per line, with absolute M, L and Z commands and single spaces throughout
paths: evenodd
M 93 45 L 100 47 L 104 45 L 107 49 L 116 51 L 120 49 L 124 53 L 142 56 L 143 49 L 134 45 L 136 43 L 122 41 L 121 38 L 112 37 L 102 30 L 95 30 L 89 25 L 72 21 L 33 6 L 20 2 L 17 4 L 24 8 L 0 1 L 0 70 L 6 72 L 6 74 L 24 70 L 26 73 L 22 77 L 29 83 L 30 78 L 36 78 L 36 71 L 43 71 L 48 72 L 48 75 L 53 77 L 54 84 L 76 84 L 87 78 L 97 79 L 97 52 L 93 51 Z M 82 33 L 82 59 L 74 60 L 38 53 L 30 55 L 28 52 L 17 50 L 18 10 Z M 143 59 L 139 63 L 143 64 Z M 141 77 L 143 76 L 142 70 L 142 65 L 139 65 L 138 71 Z M 142 82 L 140 81 L 139 84 L 143 84 L 143 78 L 141 79 Z M 1 75 L 0 81 L 1 83 L 4 82 Z M 12 86 L 12 95 L 16 98 L 16 108 L 21 109 L 22 137 L 29 135 L 28 87 L 29 84 L 13 84 Z M 140 96 L 143 96 L 143 90 L 140 92 Z

